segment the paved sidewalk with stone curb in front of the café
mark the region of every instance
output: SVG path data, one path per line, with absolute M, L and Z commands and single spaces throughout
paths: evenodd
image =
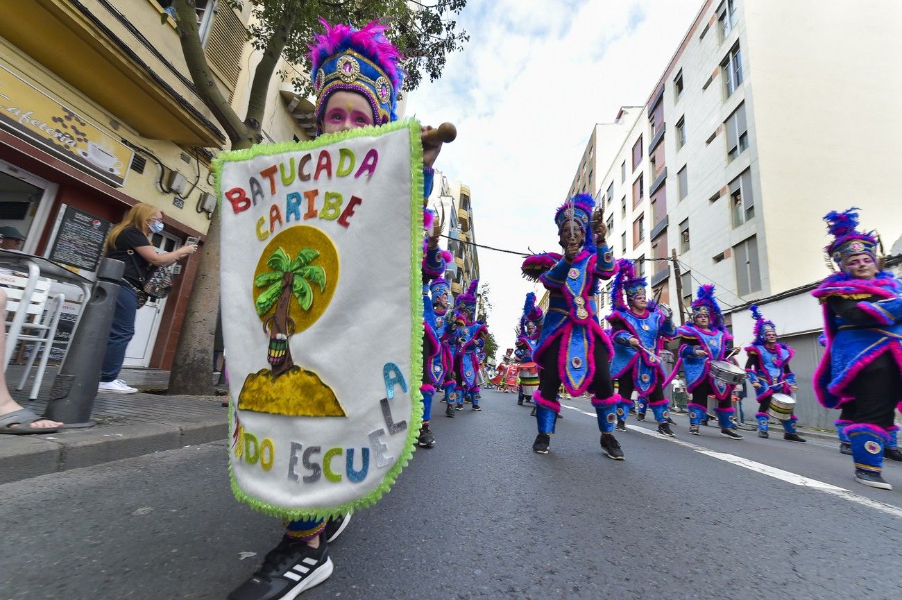
M 17 382 L 14 366 L 7 381 Z M 29 402 L 30 383 L 22 392 L 12 391 L 23 407 L 37 414 L 47 405 L 53 376 L 48 374 L 38 399 Z M 83 466 L 138 457 L 161 450 L 204 444 L 227 437 L 222 406 L 226 396 L 165 396 L 147 393 L 166 387 L 169 373 L 143 369 L 124 370 L 122 378 L 142 392 L 97 394 L 87 429 L 60 429 L 46 435 L 0 436 L 0 485 Z

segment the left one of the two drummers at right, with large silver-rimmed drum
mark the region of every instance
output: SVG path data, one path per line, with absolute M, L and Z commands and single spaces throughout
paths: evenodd
M 692 302 L 692 323 L 676 328 L 680 337 L 679 360 L 673 373 L 682 363 L 686 371 L 686 390 L 691 394 L 688 404 L 689 433 L 702 435 L 698 426 L 707 415 L 708 396 L 717 400 L 717 421 L 724 438 L 742 439 L 732 430 L 730 418 L 736 411 L 730 397 L 745 373 L 726 360 L 732 355 L 732 335 L 723 327 L 723 313 L 714 300 L 714 286 L 698 288 Z M 669 382 L 668 382 L 669 383 Z

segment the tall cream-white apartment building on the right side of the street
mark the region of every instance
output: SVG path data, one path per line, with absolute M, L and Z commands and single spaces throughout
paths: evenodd
M 821 218 L 857 206 L 887 249 L 902 236 L 887 177 L 902 160 L 902 79 L 889 75 L 900 22 L 892 2 L 707 0 L 620 150 L 594 151 L 608 164 L 595 193 L 615 254 L 675 310 L 714 283 L 737 345 L 758 303 L 796 349 L 802 382 L 821 352 L 808 293 L 828 273 Z M 582 164 L 577 181 L 591 183 Z M 797 401 L 803 422 L 832 422 L 810 385 Z

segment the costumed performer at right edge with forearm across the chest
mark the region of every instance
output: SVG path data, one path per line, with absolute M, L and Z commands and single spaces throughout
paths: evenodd
M 825 250 L 839 271 L 812 291 L 826 335 L 814 384 L 818 401 L 849 421 L 842 433 L 855 480 L 891 490 L 881 471 L 886 448 L 897 450 L 894 417 L 902 409 L 902 282 L 880 269 L 877 236 L 857 229 L 857 210 L 824 217 L 833 235 Z

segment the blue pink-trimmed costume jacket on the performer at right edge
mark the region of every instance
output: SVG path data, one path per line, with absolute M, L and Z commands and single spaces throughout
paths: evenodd
M 871 280 L 834 273 L 811 293 L 824 306 L 826 351 L 814 378 L 821 404 L 832 409 L 850 400 L 849 384 L 879 355 L 888 353 L 902 369 L 902 282 L 892 273 Z M 840 314 L 833 300 L 855 303 Z

